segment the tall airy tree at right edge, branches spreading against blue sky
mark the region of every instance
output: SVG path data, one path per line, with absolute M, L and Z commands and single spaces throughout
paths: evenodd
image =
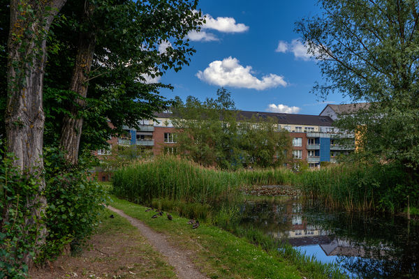
M 362 134 L 372 156 L 413 172 L 419 166 L 419 1 L 319 2 L 321 15 L 296 24 L 325 77 L 314 91 L 369 102 L 338 125 Z

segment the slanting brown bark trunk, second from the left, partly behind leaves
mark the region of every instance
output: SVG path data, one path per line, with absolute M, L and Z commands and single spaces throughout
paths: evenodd
M 92 5 L 85 8 L 82 21 L 87 22 L 93 11 L 94 6 Z M 78 151 L 83 126 L 83 117 L 80 116 L 80 111 L 83 110 L 85 105 L 84 98 L 87 96 L 88 78 L 95 45 L 96 36 L 94 31 L 90 29 L 87 32 L 80 32 L 78 52 L 70 84 L 70 90 L 77 93 L 78 98 L 74 100 L 76 105 L 72 105 L 70 108 L 71 115 L 64 117 L 60 138 L 60 149 L 64 151 L 66 161 L 71 165 L 77 165 L 78 163 Z

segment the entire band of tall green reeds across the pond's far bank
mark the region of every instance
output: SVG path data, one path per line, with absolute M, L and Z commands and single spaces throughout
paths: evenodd
M 288 185 L 348 211 L 402 211 L 407 195 L 411 206 L 419 206 L 417 183 L 407 181 L 403 167 L 393 164 L 341 164 L 300 173 L 286 168 L 228 172 L 164 156 L 117 170 L 113 185 L 118 197 L 142 204 L 153 199 L 219 204 L 235 201 L 244 187 Z

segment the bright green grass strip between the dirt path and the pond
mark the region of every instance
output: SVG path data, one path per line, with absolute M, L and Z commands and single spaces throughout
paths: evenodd
M 319 264 L 291 246 L 277 250 L 277 243 L 256 230 L 243 229 L 244 235 L 237 237 L 203 222 L 198 229 L 191 229 L 186 225 L 188 219 L 177 213 L 172 213 L 172 222 L 166 218 L 152 219 L 154 213 L 145 212 L 144 206 L 117 197 L 112 197 L 110 205 L 168 234 L 174 245 L 196 251 L 193 262 L 210 278 L 346 278 L 335 267 Z M 228 216 L 226 213 L 226 220 Z

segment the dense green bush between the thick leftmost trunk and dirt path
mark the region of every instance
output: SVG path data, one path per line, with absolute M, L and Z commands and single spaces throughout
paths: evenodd
M 68 244 L 72 251 L 78 250 L 98 225 L 106 194 L 102 186 L 89 179 L 85 169 L 83 160 L 77 167 L 68 167 L 58 149 L 45 149 L 48 235 L 38 263 L 54 259 Z

